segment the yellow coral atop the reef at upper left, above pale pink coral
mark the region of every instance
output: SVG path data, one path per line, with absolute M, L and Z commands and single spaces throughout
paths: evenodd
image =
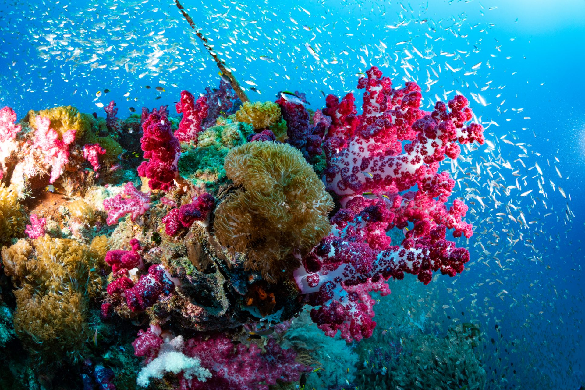
M 30 110 L 25 121 L 29 122 L 29 126 L 36 129 L 36 117 L 44 116 L 51 120 L 50 128 L 63 136 L 68 130 L 75 130 L 75 139 L 83 140 L 85 135 L 90 132 L 93 118 L 90 115 L 77 111 L 73 106 L 59 106 L 47 108 L 46 110 L 34 111 Z

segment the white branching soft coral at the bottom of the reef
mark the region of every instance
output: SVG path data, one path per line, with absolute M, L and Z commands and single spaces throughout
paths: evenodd
M 211 378 L 211 372 L 201 367 L 201 360 L 183 354 L 184 342 L 183 336 L 174 339 L 166 337 L 158 356 L 139 372 L 136 383 L 146 387 L 150 384 L 151 378 L 161 379 L 166 372 L 182 373 L 185 379 L 197 377 L 201 382 Z

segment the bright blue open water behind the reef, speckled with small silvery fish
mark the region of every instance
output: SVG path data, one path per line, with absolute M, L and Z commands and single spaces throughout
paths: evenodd
M 118 104 L 118 116 L 123 118 L 129 115 L 130 107 L 139 112 L 142 106 L 168 104 L 172 109 L 181 90 L 195 94 L 218 85 L 214 61 L 171 2 L 106 1 L 95 6 L 80 3 L 83 2 L 12 1 L 0 6 L 4 41 L 0 49 L 0 105 L 14 108 L 19 118 L 29 109 L 53 105 L 75 105 L 82 112 L 104 115 L 96 103 L 107 105 L 112 99 Z M 256 84 L 261 93 L 248 91 L 252 100 L 274 101 L 278 91 L 297 90 L 307 94 L 312 109 L 321 108 L 324 105 L 321 91 L 338 96 L 357 92 L 355 74 L 377 65 L 384 75 L 393 78 L 394 84 L 416 80 L 425 91 L 424 83 L 429 78 L 439 80 L 423 93 L 425 107 L 429 99 L 436 101 L 435 95 L 445 99 L 443 91 L 451 91 L 447 98 L 452 98 L 458 90 L 470 99 L 474 114 L 484 126 L 496 122 L 486 130 L 487 139 L 495 145 L 493 153 L 496 156 L 501 153 L 514 170 L 518 169 L 519 179 L 527 176 L 522 191 L 512 189 L 509 196 L 497 196 L 497 200 L 504 205 L 510 199 L 520 202 L 526 220 L 537 222 L 524 227 L 507 216 L 498 222 L 495 213 L 508 214 L 502 206 L 497 210 L 493 209 L 493 202 L 486 203 L 486 209 L 479 204 L 474 206 L 477 219 L 468 215 L 468 220 L 476 225 L 476 234 L 469 243 L 459 240 L 460 245 L 469 247 L 474 264 L 455 279 L 439 277 L 432 282 L 439 308 L 444 303 L 450 305 L 449 309 L 439 310 L 444 312 L 440 316 L 450 323 L 453 317 L 462 317 L 459 312 L 464 312 L 464 320 L 479 321 L 487 340 L 497 340 L 488 342 L 486 388 L 577 389 L 585 384 L 581 333 L 585 319 L 581 250 L 585 223 L 583 1 L 254 0 L 245 4 L 229 1 L 207 4 L 192 0 L 184 1 L 183 5 L 213 39 L 215 50 L 221 51 L 240 83 L 247 88 L 250 85 L 245 84 L 246 80 Z M 109 8 L 113 6 L 117 8 Z M 123 15 L 125 12 L 128 13 Z M 154 20 L 148 23 L 148 19 Z M 234 34 L 234 30 L 240 33 Z M 153 35 L 148 36 L 151 32 Z M 73 33 L 87 44 L 71 44 L 82 52 L 77 60 L 65 61 L 73 51 L 67 49 L 68 44 L 55 44 L 61 53 L 39 49 L 50 46 L 51 41 L 43 37 L 50 33 L 56 34 L 50 38 L 53 40 Z M 121 47 L 121 43 L 128 46 Z M 309 54 L 305 43 L 315 48 L 319 60 Z M 147 56 L 171 45 L 176 45 L 175 52 L 162 54 L 159 63 L 149 70 Z M 109 46 L 113 47 L 108 50 Z M 428 56 L 425 47 L 436 56 L 423 58 Z M 123 61 L 118 64 L 116 61 L 133 50 L 137 53 L 144 50 L 144 55 L 129 58 L 136 69 L 126 71 Z M 98 53 L 97 58 L 90 61 L 94 53 Z M 274 61 L 260 60 L 260 56 L 270 56 Z M 412 67 L 400 67 L 404 58 Z M 335 59 L 338 63 L 332 63 Z M 445 63 L 457 71 L 450 71 Z M 479 63 L 475 74 L 464 75 L 474 71 L 473 65 Z M 92 68 L 92 64 L 105 67 Z M 438 71 L 438 64 L 442 71 L 440 77 L 435 77 L 431 69 Z M 177 69 L 169 70 L 173 66 Z M 131 64 L 130 70 L 132 67 Z M 427 71 L 431 73 L 428 75 Z M 152 88 L 146 89 L 146 85 Z M 159 85 L 166 91 L 157 92 L 154 88 Z M 105 89 L 109 92 L 96 96 Z M 127 92 L 129 101 L 124 96 Z M 487 105 L 473 100 L 472 93 L 480 94 Z M 155 99 L 157 96 L 161 98 Z M 524 143 L 526 153 L 505 143 L 503 136 L 513 143 Z M 481 163 L 482 156 L 489 158 L 487 148 L 484 145 L 472 153 L 473 164 Z M 519 154 L 527 157 L 518 157 Z M 520 161 L 514 161 L 518 158 L 526 168 Z M 528 170 L 535 163 L 542 175 L 538 175 L 536 168 Z M 480 184 L 490 179 L 485 169 L 483 165 Z M 493 173 L 497 171 L 505 177 L 505 185 L 514 185 L 516 177 L 510 174 L 512 170 L 493 168 Z M 541 178 L 546 198 L 538 194 L 537 181 Z M 556 191 L 549 183 L 551 180 Z M 489 197 L 488 187 L 479 187 L 480 194 Z M 559 193 L 558 187 L 564 189 L 567 198 Z M 528 189 L 534 192 L 519 196 Z M 454 195 L 466 195 L 464 188 Z M 469 200 L 473 201 L 467 199 L 468 203 Z M 567 214 L 567 203 L 574 215 Z M 546 213 L 552 214 L 545 217 Z M 484 222 L 490 216 L 493 225 Z M 522 241 L 513 247 L 502 232 L 510 228 L 510 223 L 523 234 Z M 501 240 L 490 246 L 487 241 L 493 239 L 491 233 L 479 233 L 492 227 Z M 514 239 L 517 238 L 518 234 Z M 490 254 L 483 253 L 478 243 Z M 498 258 L 503 267 L 495 264 L 495 259 L 486 265 L 498 250 L 502 251 Z M 478 260 L 481 257 L 484 259 Z M 506 259 L 510 261 L 505 263 Z M 491 282 L 495 283 L 490 285 Z M 501 299 L 496 295 L 503 289 L 507 293 L 501 294 Z M 460 298 L 464 299 L 457 302 Z M 477 299 L 475 304 L 473 299 Z M 377 312 L 377 316 L 384 316 L 384 312 Z M 505 372 L 509 377 L 505 380 L 501 377 L 500 357 L 508 364 Z M 514 364 L 516 374 L 512 375 L 509 363 Z

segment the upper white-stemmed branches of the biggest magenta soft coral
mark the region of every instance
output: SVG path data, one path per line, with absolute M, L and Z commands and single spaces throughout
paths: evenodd
M 447 112 L 448 105 L 437 102 L 435 110 L 428 113 L 419 109 L 422 95 L 417 84 L 407 82 L 402 89 L 391 85 L 390 78 L 382 77 L 378 68 L 367 71 L 367 78 L 358 84 L 366 92 L 363 113 L 357 119 L 349 108 L 352 94 L 340 104 L 334 98 L 327 99 L 325 112 L 338 115 L 333 115 L 335 127 L 325 142 L 329 152 L 325 178 L 343 198 L 366 191 L 394 193 L 432 181 L 445 154 L 450 158 L 459 155 L 456 142 L 484 141 L 481 125 L 463 127 L 473 117 L 463 96 L 449 101 L 451 112 Z M 340 132 L 349 138 L 340 141 Z M 402 141 L 411 141 L 404 145 L 404 153 Z

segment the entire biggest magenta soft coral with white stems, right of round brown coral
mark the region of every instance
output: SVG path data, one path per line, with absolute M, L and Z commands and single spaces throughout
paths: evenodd
M 376 67 L 358 88 L 365 89 L 361 115 L 353 94 L 342 101 L 332 95 L 326 99 L 323 112 L 331 125 L 324 142 L 324 178 L 344 208 L 331 219 L 331 234 L 294 273 L 301 293 L 319 306 L 311 311 L 314 322 L 329 336 L 340 331 L 347 341 L 371 336 L 376 323 L 369 292 L 389 294 L 388 278 L 409 273 L 428 284 L 432 272 L 463 271 L 469 252 L 446 240 L 445 233 L 454 229 L 453 236 L 469 238 L 473 227 L 462 219 L 463 201 L 456 199 L 449 209 L 445 205 L 455 181 L 438 170 L 445 156 L 459 155 L 457 142 L 484 140 L 481 125 L 464 126 L 473 115 L 463 96 L 438 102 L 428 113 L 419 108 L 417 84 L 394 89 Z M 408 141 L 404 151 L 403 141 Z M 414 229 L 401 246 L 391 245 L 386 232 L 408 223 Z

